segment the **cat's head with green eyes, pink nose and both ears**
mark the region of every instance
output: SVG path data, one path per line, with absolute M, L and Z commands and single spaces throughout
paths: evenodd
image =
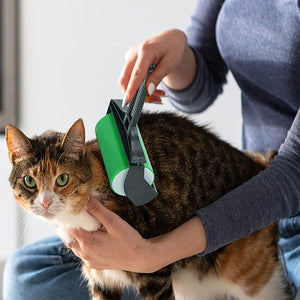
M 6 142 L 12 163 L 9 181 L 22 208 L 55 221 L 86 207 L 92 175 L 81 119 L 65 134 L 47 131 L 31 139 L 7 125 Z

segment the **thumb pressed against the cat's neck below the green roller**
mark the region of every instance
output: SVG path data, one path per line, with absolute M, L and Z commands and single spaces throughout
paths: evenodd
M 116 220 L 119 219 L 119 216 L 107 209 L 102 203 L 97 199 L 91 197 L 87 204 L 87 211 L 94 216 L 100 223 L 109 230 L 116 223 Z

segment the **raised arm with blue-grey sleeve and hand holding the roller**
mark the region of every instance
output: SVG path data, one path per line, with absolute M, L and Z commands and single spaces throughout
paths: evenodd
M 149 95 L 159 99 L 156 87 L 164 80 L 168 97 L 179 109 L 198 112 L 222 91 L 227 67 L 216 44 L 216 20 L 224 0 L 199 0 L 186 35 L 177 29 L 161 32 L 132 47 L 126 54 L 119 84 L 128 104 L 144 80 Z

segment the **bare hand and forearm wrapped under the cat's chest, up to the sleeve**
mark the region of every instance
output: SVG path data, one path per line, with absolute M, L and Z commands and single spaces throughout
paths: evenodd
M 182 258 L 204 251 L 206 237 L 199 217 L 174 230 L 144 239 L 118 215 L 91 198 L 88 212 L 104 226 L 87 232 L 69 229 L 75 241 L 70 248 L 92 269 L 152 273 Z

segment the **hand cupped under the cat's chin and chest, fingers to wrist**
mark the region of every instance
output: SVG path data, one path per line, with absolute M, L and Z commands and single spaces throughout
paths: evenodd
M 103 229 L 88 232 L 70 228 L 75 239 L 69 244 L 75 255 L 92 269 L 147 271 L 147 248 L 143 237 L 114 212 L 91 198 L 88 212 L 98 219 Z

